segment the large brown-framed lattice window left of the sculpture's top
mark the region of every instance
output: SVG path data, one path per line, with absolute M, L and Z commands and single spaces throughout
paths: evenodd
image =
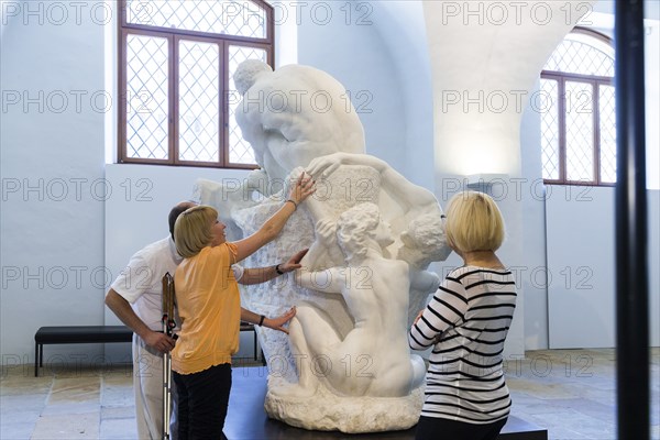
M 274 63 L 273 8 L 262 0 L 122 0 L 119 162 L 254 168 L 232 76 Z

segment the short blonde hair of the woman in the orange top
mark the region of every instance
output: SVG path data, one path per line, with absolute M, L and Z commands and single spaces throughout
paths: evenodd
M 208 246 L 212 240 L 211 226 L 218 220 L 218 211 L 206 205 L 186 209 L 174 223 L 176 252 L 190 258 Z

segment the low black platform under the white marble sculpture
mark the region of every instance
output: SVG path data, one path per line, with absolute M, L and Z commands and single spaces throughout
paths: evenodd
M 233 369 L 224 435 L 229 440 L 413 440 L 415 428 L 406 431 L 348 435 L 338 431 L 308 431 L 268 418 L 264 410 L 266 367 Z M 499 440 L 548 440 L 548 431 L 509 416 Z

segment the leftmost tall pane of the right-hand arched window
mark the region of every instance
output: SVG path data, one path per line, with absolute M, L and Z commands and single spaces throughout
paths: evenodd
M 541 112 L 541 161 L 543 178 L 559 179 L 559 88 L 553 79 L 541 79 L 538 108 Z

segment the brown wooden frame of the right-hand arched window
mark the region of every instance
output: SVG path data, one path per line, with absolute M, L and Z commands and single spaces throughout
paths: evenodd
M 613 42 L 606 35 L 598 32 L 584 29 L 575 28 L 572 33 L 582 33 L 601 40 L 608 45 L 613 45 Z M 615 186 L 615 182 L 602 182 L 601 179 L 601 90 L 602 86 L 614 87 L 613 77 L 604 77 L 596 75 L 580 75 L 570 74 L 565 72 L 554 70 L 542 70 L 541 79 L 550 79 L 557 81 L 557 98 L 558 98 L 558 148 L 559 148 L 559 177 L 557 179 L 543 178 L 546 185 L 580 185 L 580 186 Z M 582 82 L 590 84 L 592 86 L 592 123 L 593 123 L 593 180 L 569 180 L 566 178 L 566 123 L 565 123 L 565 84 L 566 82 Z

